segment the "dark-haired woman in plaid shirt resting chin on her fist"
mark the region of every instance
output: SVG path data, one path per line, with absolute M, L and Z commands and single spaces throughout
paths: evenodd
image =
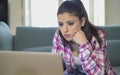
M 106 53 L 105 32 L 92 25 L 80 0 L 64 1 L 52 53 L 61 54 L 65 75 L 115 75 Z

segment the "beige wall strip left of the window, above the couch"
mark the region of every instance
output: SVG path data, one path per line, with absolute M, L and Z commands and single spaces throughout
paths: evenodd
M 16 32 L 17 26 L 24 24 L 22 1 L 24 0 L 9 0 L 9 24 L 13 34 Z

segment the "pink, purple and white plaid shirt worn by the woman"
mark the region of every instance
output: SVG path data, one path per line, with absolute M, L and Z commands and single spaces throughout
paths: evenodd
M 101 47 L 94 36 L 91 43 L 87 42 L 79 46 L 79 58 L 83 71 L 86 75 L 116 75 L 106 57 L 105 33 L 102 30 L 99 30 L 98 33 L 102 39 Z M 63 45 L 58 29 L 54 35 L 52 53 L 62 55 L 67 68 L 66 73 L 77 73 L 72 51 L 69 45 Z

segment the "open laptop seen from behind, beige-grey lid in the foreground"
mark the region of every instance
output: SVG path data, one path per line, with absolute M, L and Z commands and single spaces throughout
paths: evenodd
M 0 51 L 0 75 L 64 75 L 62 58 L 47 52 Z

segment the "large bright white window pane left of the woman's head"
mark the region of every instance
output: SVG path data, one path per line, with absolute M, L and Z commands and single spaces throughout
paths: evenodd
M 57 26 L 58 0 L 31 0 L 31 25 L 34 27 Z

